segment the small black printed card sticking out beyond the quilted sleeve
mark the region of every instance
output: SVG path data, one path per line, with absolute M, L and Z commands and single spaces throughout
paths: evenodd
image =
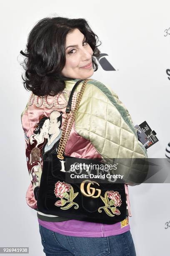
M 140 125 L 135 125 L 135 128 L 137 130 L 140 142 L 143 143 L 143 146 L 145 146 L 146 149 L 150 146 L 153 146 L 153 144 L 159 141 L 158 138 L 155 136 L 155 131 L 150 128 L 146 121 L 144 121 Z

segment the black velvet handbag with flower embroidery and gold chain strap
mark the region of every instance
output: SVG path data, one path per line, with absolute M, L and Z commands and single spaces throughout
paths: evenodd
M 85 164 L 85 166 L 98 164 L 100 166 L 103 163 L 101 159 L 80 159 L 63 155 L 82 93 L 90 79 L 85 79 L 82 84 L 67 128 L 68 116 L 71 113 L 72 95 L 77 85 L 83 80 L 77 81 L 70 92 L 57 153 L 46 153 L 43 158 L 37 209 L 45 214 L 75 220 L 114 224 L 126 218 L 125 184 L 108 181 L 106 183 L 105 179 L 101 182 L 100 178 L 89 179 L 83 176 L 83 174 L 87 174 L 87 170 L 82 169 L 82 178 L 72 179 L 70 174 L 76 176 L 77 169 L 73 168 L 74 171 L 70 171 L 70 166 L 75 167 L 75 163 L 78 166 L 80 164 Z M 90 169 L 90 172 L 96 174 L 95 170 Z

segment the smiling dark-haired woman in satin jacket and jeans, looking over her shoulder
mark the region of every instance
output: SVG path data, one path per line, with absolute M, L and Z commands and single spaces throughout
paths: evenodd
M 68 97 L 75 82 L 87 79 L 97 71 L 97 39 L 87 21 L 81 18 L 44 18 L 32 28 L 26 51 L 20 52 L 26 57 L 23 63 L 24 86 L 25 89 L 32 91 L 28 104 L 21 114 L 26 147 L 40 115 L 44 114 L 50 118 L 50 122 L 56 124 L 58 116 L 52 115 L 52 112 L 61 112 L 63 125 Z M 81 86 L 82 83 L 74 92 L 72 110 L 75 108 Z M 120 130 L 124 135 L 128 131 L 127 138 L 124 137 L 121 142 L 124 143 L 122 146 Z M 53 132 L 56 131 L 58 130 L 53 129 Z M 55 150 L 57 151 L 57 148 Z M 45 154 L 45 151 L 41 153 Z M 75 123 L 65 147 L 65 155 L 80 158 L 147 157 L 145 148 L 138 141 L 128 110 L 115 92 L 94 79 L 87 82 L 83 92 Z M 128 222 L 128 216 L 132 216 L 128 184 L 125 184 L 125 191 L 125 220 L 107 225 L 47 215 L 38 211 L 37 189 L 34 191 L 30 184 L 26 194 L 27 203 L 37 210 L 45 254 L 136 255 Z

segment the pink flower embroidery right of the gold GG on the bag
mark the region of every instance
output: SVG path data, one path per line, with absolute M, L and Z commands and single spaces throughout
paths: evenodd
M 120 210 L 118 210 L 116 207 L 120 206 L 122 204 L 122 200 L 120 198 L 120 195 L 117 191 L 106 191 L 105 192 L 105 197 L 102 197 L 100 195 L 100 198 L 102 199 L 102 201 L 105 203 L 105 206 L 99 207 L 98 208 L 98 212 L 102 212 L 103 209 L 107 215 L 109 215 L 110 217 L 113 217 L 116 215 L 120 215 Z M 110 201 L 109 201 L 110 199 Z M 111 210 L 111 212 L 110 212 Z M 114 214 L 112 214 L 114 213 Z

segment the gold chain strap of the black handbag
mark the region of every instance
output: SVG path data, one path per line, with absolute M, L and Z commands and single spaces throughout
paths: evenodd
M 70 119 L 70 123 L 68 125 L 68 128 L 67 128 L 67 123 L 68 123 L 68 117 L 70 115 L 69 114 L 66 114 L 66 117 L 65 117 L 65 122 L 63 124 L 63 128 L 62 128 L 62 134 L 61 134 L 61 138 L 60 138 L 60 143 L 59 143 L 59 146 L 58 146 L 58 151 L 57 151 L 57 157 L 59 159 L 64 159 L 64 156 L 63 156 L 63 152 L 64 152 L 64 149 L 65 149 L 65 146 L 66 146 L 66 143 L 67 143 L 67 140 L 68 140 L 68 137 L 70 135 L 70 131 L 71 131 L 71 128 L 72 128 L 72 124 L 75 120 L 75 115 L 77 113 L 77 109 L 78 109 L 78 106 L 80 104 L 80 100 L 82 98 L 82 94 L 83 94 L 83 91 L 85 89 L 85 86 L 87 84 L 88 81 L 92 80 L 91 78 L 88 78 L 88 79 L 85 79 L 85 81 L 83 82 L 82 84 L 82 87 L 81 87 L 81 90 L 80 90 L 80 93 L 77 97 L 77 100 L 76 100 L 76 104 L 75 104 L 75 108 L 74 110 L 72 111 L 72 117 Z M 66 132 L 66 128 L 67 128 L 67 132 Z

